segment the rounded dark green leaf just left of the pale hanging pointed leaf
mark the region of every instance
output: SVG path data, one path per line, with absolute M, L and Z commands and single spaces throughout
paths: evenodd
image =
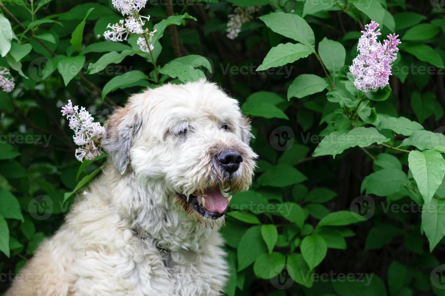
M 408 177 L 402 170 L 383 169 L 368 175 L 364 188 L 367 194 L 388 196 L 399 192 L 408 183 Z

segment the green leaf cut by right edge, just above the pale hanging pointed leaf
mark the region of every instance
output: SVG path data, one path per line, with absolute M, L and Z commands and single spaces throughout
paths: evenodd
M 404 139 L 400 146 L 415 146 L 419 150 L 445 152 L 445 136 L 429 130 L 418 130 Z

